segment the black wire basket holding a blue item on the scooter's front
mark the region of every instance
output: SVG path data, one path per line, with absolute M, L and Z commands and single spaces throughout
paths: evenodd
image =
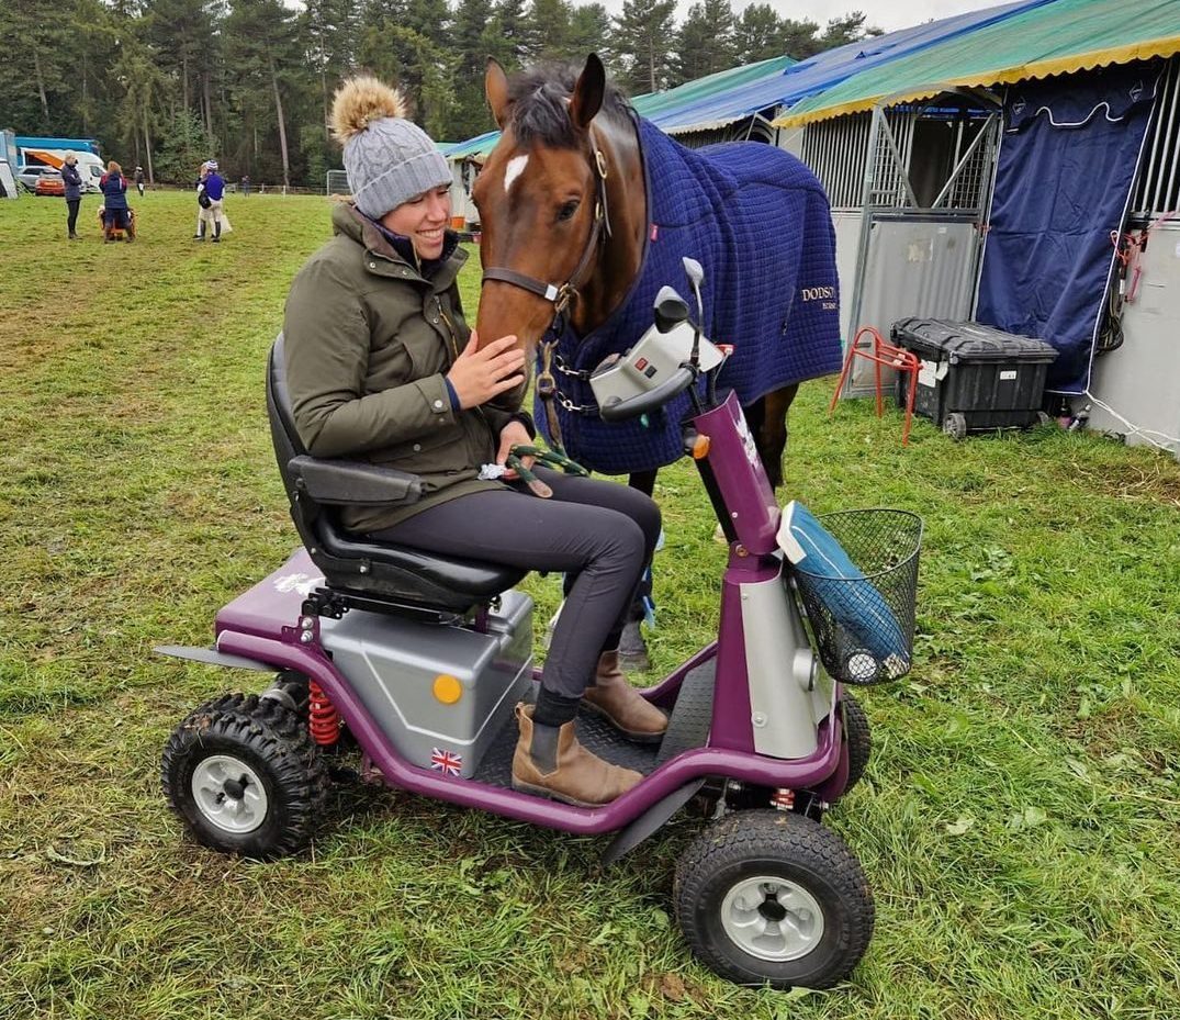
M 922 518 L 876 509 L 818 519 L 856 568 L 847 577 L 812 573 L 806 561 L 791 568 L 824 667 L 845 684 L 904 676 L 913 659 Z

